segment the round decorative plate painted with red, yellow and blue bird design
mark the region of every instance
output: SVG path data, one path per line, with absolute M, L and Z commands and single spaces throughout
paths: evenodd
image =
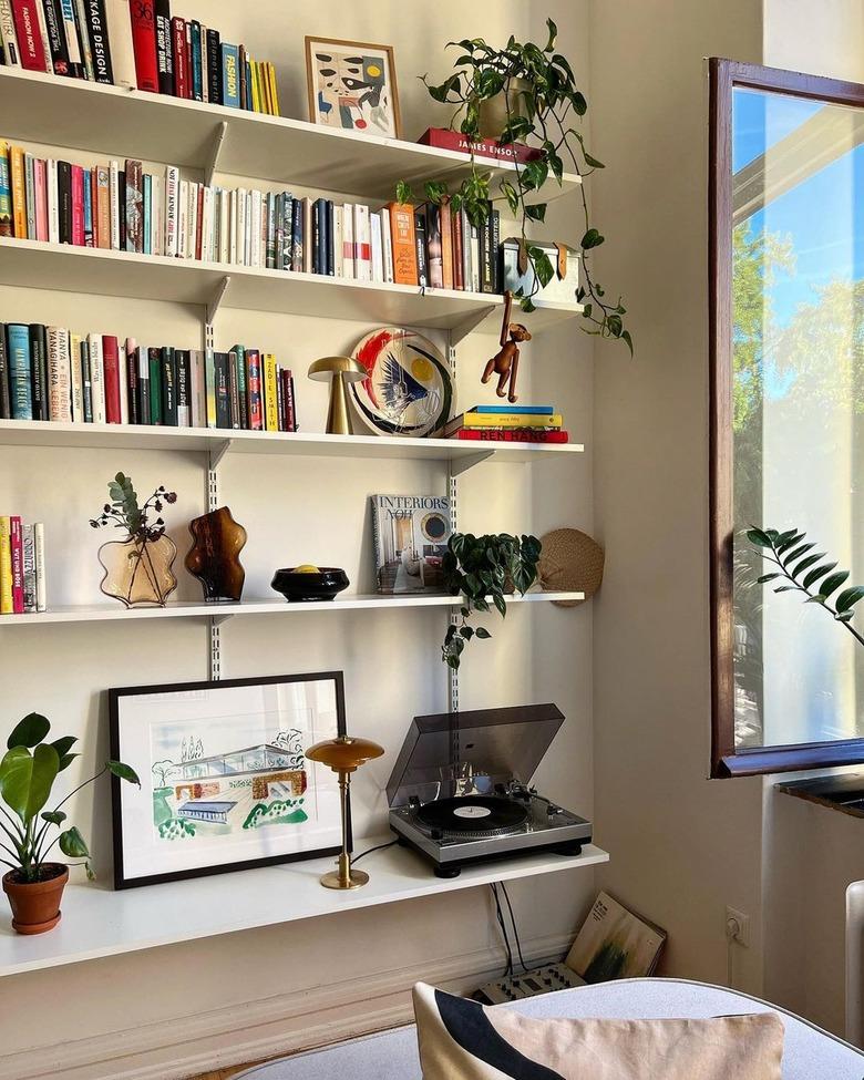
M 383 435 L 429 435 L 450 419 L 453 383 L 444 358 L 415 330 L 380 327 L 354 349 L 369 372 L 351 383 L 367 428 Z

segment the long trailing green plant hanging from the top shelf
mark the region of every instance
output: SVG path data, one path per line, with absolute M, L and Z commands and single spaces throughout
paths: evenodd
M 520 295 L 525 311 L 534 310 L 532 297 L 552 280 L 554 274 L 549 257 L 527 236 L 528 223 L 542 223 L 546 217 L 547 203 L 539 197 L 542 188 L 551 177 L 560 186 L 565 161 L 580 178 L 604 168 L 603 162 L 588 153 L 583 134 L 574 126 L 587 112 L 588 104 L 576 84 L 569 61 L 556 52 L 557 27 L 552 19 L 546 20 L 546 25 L 548 39 L 542 48 L 531 41 L 518 42 L 513 35 L 503 49 L 493 48 L 483 38 L 451 41 L 448 48 L 460 50 L 453 73 L 438 85 L 431 84 L 426 75 L 422 76 L 435 101 L 456 106 L 450 125 L 453 127 L 459 123 L 471 154 L 471 167 L 456 191 L 451 193 L 441 181 L 429 181 L 424 185 L 425 198 L 439 204 L 449 199 L 454 210 L 464 207 L 472 224 L 477 226 L 487 220 L 495 198 L 506 199 L 518 220 L 521 238 L 534 268 L 533 291 Z M 481 105 L 498 94 L 505 95 L 507 120 L 494 137 L 502 145 L 529 143 L 538 156 L 524 165 L 514 162 L 515 172 L 506 172 L 500 178 L 498 194 L 493 196 L 492 173 L 477 164 L 474 143 L 481 138 Z M 617 301 L 607 299 L 592 270 L 589 253 L 599 247 L 605 237 L 590 222 L 584 184 L 579 184 L 579 194 L 585 218 L 579 241 L 585 284 L 579 286 L 577 299 L 584 304 L 583 315 L 589 323 L 585 329 L 601 338 L 624 341 L 632 354 L 632 338 L 624 325 L 626 308 L 620 297 Z M 413 198 L 411 186 L 400 181 L 397 200 L 411 203 Z

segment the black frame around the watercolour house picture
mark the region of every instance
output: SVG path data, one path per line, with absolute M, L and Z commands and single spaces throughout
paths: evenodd
M 336 691 L 336 712 L 337 712 L 337 734 L 346 734 L 346 708 L 344 708 L 344 677 L 341 671 L 312 671 L 301 675 L 277 675 L 263 676 L 246 679 L 219 679 L 218 681 L 204 680 L 196 682 L 173 682 L 156 683 L 141 687 L 114 687 L 109 689 L 109 738 L 112 760 L 124 760 L 122 755 L 121 739 L 121 707 L 125 697 L 142 695 L 166 695 L 185 693 L 205 689 L 229 689 L 236 687 L 259 687 L 276 686 L 291 682 L 321 682 L 331 680 Z M 337 855 L 341 845 L 336 844 L 329 847 L 316 848 L 313 851 L 292 852 L 282 855 L 268 855 L 260 858 L 244 860 L 243 862 L 219 863 L 210 866 L 191 867 L 188 871 L 172 873 L 150 874 L 143 877 L 127 877 L 124 873 L 124 852 L 123 852 L 123 806 L 121 781 L 117 776 L 111 776 L 111 813 L 114 851 L 114 888 L 137 888 L 144 885 L 158 885 L 165 882 L 184 881 L 195 877 L 209 877 L 216 874 L 235 873 L 243 870 L 255 870 L 261 866 L 274 866 L 280 863 L 299 862 L 309 858 L 322 858 Z M 349 851 L 351 850 L 351 821 L 347 822 Z

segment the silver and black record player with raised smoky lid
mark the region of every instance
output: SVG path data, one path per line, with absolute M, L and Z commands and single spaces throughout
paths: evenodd
M 554 704 L 414 717 L 390 781 L 390 827 L 439 877 L 538 851 L 578 855 L 590 822 L 528 786 L 564 716 Z

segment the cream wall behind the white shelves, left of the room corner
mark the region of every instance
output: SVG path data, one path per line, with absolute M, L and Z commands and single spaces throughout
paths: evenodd
M 445 122 L 446 113 L 415 78 L 426 70 L 443 76 L 444 42 L 476 34 L 503 41 L 511 32 L 538 37 L 546 8 L 515 0 L 486 0 L 469 9 L 443 0 L 410 11 L 392 0 L 354 8 L 337 0 L 290 6 L 187 0 L 175 7 L 187 18 L 217 25 L 229 40 L 244 40 L 256 56 L 271 59 L 286 115 L 306 116 L 305 33 L 394 42 L 407 137 Z M 559 9 L 563 51 L 577 71 L 586 72 L 587 6 L 562 0 L 553 7 Z M 556 236 L 578 239 L 566 200 L 549 217 Z M 186 348 L 199 346 L 199 315 L 181 305 L 86 294 L 9 288 L 0 294 L 3 321 L 55 322 Z M 319 356 L 350 349 L 367 329 L 224 311 L 217 346 L 254 341 L 278 352 L 298 376 L 304 428 L 322 430 L 326 388 L 308 382 L 302 372 Z M 473 336 L 461 350 L 461 407 L 480 399 L 479 374 L 493 340 Z M 538 398 L 551 395 L 575 438 L 590 446 L 589 357 L 588 339 L 570 325 L 526 346 L 522 372 L 525 400 L 532 390 Z M 537 534 L 568 524 L 590 527 L 590 463 L 588 453 L 566 465 L 481 466 L 462 483 L 461 526 Z M 166 516 L 181 549 L 179 565 L 188 543 L 185 524 L 205 508 L 202 466 L 194 454 L 1 449 L 0 507 L 45 521 L 51 601 L 94 603 L 100 599 L 95 551 L 106 536 L 86 522 L 104 501 L 106 480 L 123 470 L 138 491 L 161 483 L 178 491 Z M 445 490 L 441 466 L 228 455 L 222 497 L 249 531 L 243 554 L 247 595 L 267 595 L 274 568 L 299 562 L 343 565 L 368 590 L 368 495 L 424 490 Z M 178 597 L 195 598 L 196 583 L 185 572 L 179 576 Z M 592 811 L 590 623 L 589 605 L 514 609 L 506 625 L 493 627 L 493 642 L 472 648 L 462 680 L 466 708 L 541 700 L 560 706 L 567 723 L 538 779 L 554 799 L 586 815 Z M 362 836 L 385 825 L 382 788 L 410 718 L 445 707 L 438 656 L 443 628 L 443 616 L 434 611 L 236 619 L 223 630 L 223 673 L 344 670 L 349 730 L 380 740 L 388 751 L 361 771 L 354 785 Z M 3 722 L 11 727 L 37 709 L 61 731 L 79 734 L 83 753 L 74 772 L 83 776 L 107 752 L 105 688 L 206 678 L 206 629 L 196 621 L 0 626 Z M 107 790 L 79 799 L 74 810 L 104 884 L 110 881 Z M 374 873 L 373 857 L 368 868 Z M 213 888 L 218 887 L 214 877 Z M 569 940 L 593 897 L 593 875 L 537 878 L 514 885 L 512 895 L 527 952 L 547 955 Z M 475 889 L 3 979 L 0 1078 L 169 1078 L 397 1022 L 408 1017 L 407 990 L 415 978 L 472 987 L 501 964 L 490 915 L 485 891 Z M 194 920 L 195 913 L 188 918 Z M 45 1022 L 42 1009 L 49 1000 L 62 1002 L 62 1009 L 53 1008 Z M 109 1056 L 109 1063 L 97 1063 Z

